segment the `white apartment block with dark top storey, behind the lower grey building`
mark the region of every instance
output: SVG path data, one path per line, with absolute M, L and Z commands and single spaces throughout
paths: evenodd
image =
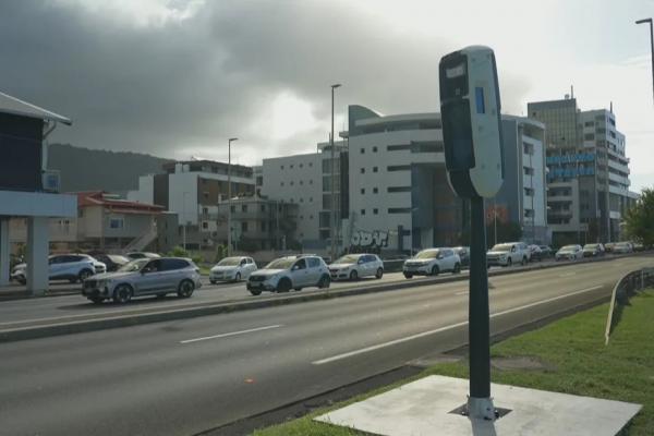
M 228 197 L 228 164 L 187 160 L 165 164 L 162 170 L 161 174 L 140 177 L 138 190 L 130 191 L 128 198 L 175 213 L 189 249 L 215 246 L 220 242 L 218 222 L 210 217 L 218 214 L 218 205 Z M 230 171 L 232 197 L 254 195 L 253 169 L 232 165 Z

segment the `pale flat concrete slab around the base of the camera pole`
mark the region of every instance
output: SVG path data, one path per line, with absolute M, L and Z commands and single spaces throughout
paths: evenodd
M 510 412 L 495 422 L 449 413 L 465 403 L 468 380 L 429 376 L 317 416 L 328 424 L 384 436 L 589 435 L 614 436 L 640 404 L 492 385 L 496 408 Z

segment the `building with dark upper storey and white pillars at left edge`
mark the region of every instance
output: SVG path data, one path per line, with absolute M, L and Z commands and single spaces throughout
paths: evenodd
M 75 195 L 59 194 L 46 137 L 71 120 L 0 93 L 0 286 L 9 283 L 11 218 L 27 219 L 27 290 L 48 290 L 49 220 L 75 217 Z

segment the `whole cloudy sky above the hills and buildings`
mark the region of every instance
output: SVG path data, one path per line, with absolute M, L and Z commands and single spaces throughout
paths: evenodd
M 0 3 L 0 90 L 73 119 L 53 142 L 161 157 L 310 152 L 349 104 L 438 110 L 441 56 L 496 51 L 505 113 L 608 108 L 632 189 L 654 184 L 654 0 L 22 0 Z

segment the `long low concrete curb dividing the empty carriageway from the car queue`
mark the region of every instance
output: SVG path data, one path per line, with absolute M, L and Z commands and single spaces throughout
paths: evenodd
M 621 256 L 627 257 L 627 256 Z M 488 277 L 506 276 L 510 274 L 526 272 L 561 266 L 578 265 L 582 263 L 606 262 L 619 257 L 604 257 L 598 259 L 581 261 L 576 264 L 545 264 L 534 265 L 523 268 L 507 268 L 501 270 L 489 271 Z M 366 286 L 365 288 L 347 288 L 342 290 L 325 290 L 308 294 L 289 293 L 288 295 L 272 294 L 264 299 L 250 301 L 232 301 L 223 303 L 206 303 L 199 306 L 178 307 L 161 311 L 149 311 L 147 313 L 136 313 L 130 315 L 108 315 L 96 319 L 70 320 L 60 322 L 47 325 L 25 326 L 17 328 L 8 328 L 0 330 L 0 342 L 12 342 L 26 339 L 38 339 L 50 336 L 71 335 L 87 331 L 105 330 L 109 328 L 130 327 L 143 324 L 160 323 L 165 320 L 175 320 L 183 318 L 192 318 L 197 316 L 217 315 L 222 313 L 247 311 L 264 307 L 274 307 L 288 304 L 304 303 L 310 301 L 330 300 L 335 298 L 363 295 L 368 293 L 388 292 L 421 286 L 449 283 L 455 281 L 468 280 L 469 276 L 452 275 L 449 277 L 427 278 L 422 280 L 407 280 L 400 282 L 390 282 L 377 286 Z

